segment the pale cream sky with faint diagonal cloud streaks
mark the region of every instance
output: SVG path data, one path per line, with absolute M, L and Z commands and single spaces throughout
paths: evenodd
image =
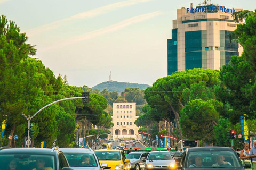
M 152 85 L 167 76 L 167 39 L 188 0 L 0 0 L 1 15 L 26 32 L 38 58 L 70 86 L 111 80 Z M 209 4 L 254 10 L 255 0 Z

